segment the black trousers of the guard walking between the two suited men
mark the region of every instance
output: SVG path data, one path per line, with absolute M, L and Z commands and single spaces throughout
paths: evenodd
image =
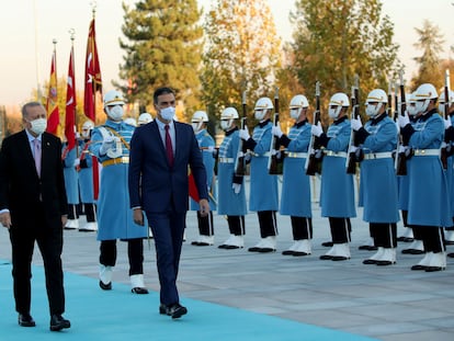
M 129 276 L 144 273 L 144 242 L 141 238 L 125 239 L 129 260 Z M 104 266 L 115 266 L 116 239 L 101 240 L 100 263 Z

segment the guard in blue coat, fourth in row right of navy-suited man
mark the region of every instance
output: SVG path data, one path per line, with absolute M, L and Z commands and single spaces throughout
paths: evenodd
M 279 125 L 272 127 L 279 144 L 285 147 L 284 173 L 281 194 L 281 215 L 290 215 L 294 243 L 285 255 L 308 255 L 311 253 L 313 214 L 310 202 L 310 179 L 305 173 L 307 150 L 311 129 L 307 121 L 309 103 L 305 95 L 295 95 L 290 103 L 290 115 L 295 125 L 288 135 Z

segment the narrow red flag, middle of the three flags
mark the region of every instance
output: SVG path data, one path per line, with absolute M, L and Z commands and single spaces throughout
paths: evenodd
M 66 88 L 66 116 L 65 116 L 65 136 L 68 141 L 68 150 L 71 150 L 76 146 L 76 79 L 75 79 L 75 65 L 73 65 L 73 47 L 71 46 L 71 53 L 69 55 L 69 69 L 68 69 L 68 84 Z

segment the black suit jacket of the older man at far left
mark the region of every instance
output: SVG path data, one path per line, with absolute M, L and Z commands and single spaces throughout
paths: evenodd
M 27 228 L 35 225 L 34 213 L 43 206 L 46 225 L 61 228 L 61 215 L 68 213 L 61 141 L 52 134 L 42 135 L 39 179 L 27 135 L 22 130 L 7 137 L 1 146 L 0 209 L 10 209 L 12 227 Z

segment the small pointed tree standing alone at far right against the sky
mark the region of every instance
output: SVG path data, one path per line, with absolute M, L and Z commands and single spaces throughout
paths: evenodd
M 413 59 L 419 64 L 418 73 L 411 79 L 411 88 L 415 91 L 422 83 L 432 83 L 436 89 L 444 86 L 441 69 L 440 53 L 443 52 L 443 35 L 440 27 L 424 20 L 421 29 L 415 29 L 419 39 L 413 46 L 422 49 L 422 56 Z

